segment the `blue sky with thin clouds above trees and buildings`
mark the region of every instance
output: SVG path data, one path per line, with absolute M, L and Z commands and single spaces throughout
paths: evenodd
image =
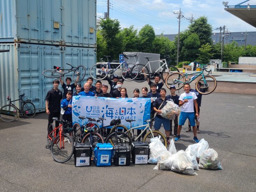
M 177 34 L 177 13 L 180 8 L 183 15 L 181 28 L 188 29 L 191 17 L 197 19 L 206 16 L 212 25 L 213 32 L 218 32 L 220 26 L 227 26 L 230 32 L 256 31 L 256 28 L 224 10 L 223 0 L 109 0 L 110 19 L 117 19 L 121 28 L 134 25 L 138 31 L 150 24 L 156 35 Z M 226 0 L 225 0 L 226 1 Z M 228 5 L 237 5 L 243 0 L 230 0 Z M 250 0 L 242 5 L 256 5 L 256 0 Z M 249 10 L 248 10 L 249 11 Z M 107 0 L 97 0 L 97 17 L 103 18 L 107 12 Z

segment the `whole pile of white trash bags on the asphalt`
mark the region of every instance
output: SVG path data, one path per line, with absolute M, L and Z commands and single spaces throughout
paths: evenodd
M 152 138 L 148 163 L 156 164 L 156 170 L 172 170 L 186 175 L 197 175 L 195 170 L 222 169 L 218 153 L 209 148 L 204 139 L 189 145 L 188 148 L 177 152 L 174 140 L 170 141 L 169 150 L 158 137 Z M 199 162 L 199 164 L 198 164 Z

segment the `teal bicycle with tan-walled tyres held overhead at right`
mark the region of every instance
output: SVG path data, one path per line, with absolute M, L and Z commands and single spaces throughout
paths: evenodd
M 184 86 L 184 83 L 191 83 L 198 76 L 202 75 L 202 77 L 200 77 L 196 82 L 196 90 L 198 91 L 198 93 L 200 93 L 202 95 L 210 94 L 216 89 L 217 81 L 214 78 L 214 76 L 209 75 L 212 70 L 207 71 L 206 67 L 207 66 L 204 66 L 200 72 L 191 73 L 190 75 L 197 74 L 197 75 L 192 76 L 191 78 L 188 78 L 187 69 L 184 67 L 184 70 L 186 71 L 185 74 L 176 72 L 176 73 L 172 73 L 167 76 L 166 86 L 168 88 L 170 88 L 170 86 L 175 86 L 176 90 L 178 90 Z M 204 75 L 204 71 L 208 72 L 208 74 Z M 199 86 L 199 88 L 198 88 L 197 85 L 199 82 L 202 83 L 202 86 Z

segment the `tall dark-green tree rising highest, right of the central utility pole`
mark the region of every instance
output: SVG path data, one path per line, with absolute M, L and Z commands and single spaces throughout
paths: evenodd
M 189 33 L 198 35 L 201 46 L 206 43 L 212 45 L 212 25 L 208 23 L 206 16 L 201 16 L 194 20 L 193 23 L 189 25 Z

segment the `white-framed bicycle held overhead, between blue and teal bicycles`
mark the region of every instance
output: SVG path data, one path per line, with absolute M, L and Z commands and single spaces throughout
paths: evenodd
M 134 79 L 134 81 L 136 82 L 144 82 L 147 80 L 147 78 L 154 78 L 156 75 L 159 75 L 163 82 L 165 82 L 165 78 L 166 77 L 166 73 L 169 73 L 169 75 L 173 72 L 180 72 L 178 70 L 178 68 L 176 68 L 175 66 L 168 66 L 166 59 L 160 59 L 160 60 L 156 60 L 156 61 L 149 61 L 150 58 L 152 57 L 145 57 L 148 62 L 146 65 L 144 64 L 137 64 L 138 70 L 139 70 L 139 74 L 137 75 L 137 77 Z M 151 63 L 153 62 L 159 62 L 159 63 L 163 63 L 162 65 L 160 65 L 160 67 L 158 69 L 156 69 L 156 71 L 152 71 L 151 69 Z M 149 71 L 148 71 L 148 67 L 149 66 Z M 161 71 L 162 70 L 162 71 Z M 133 71 L 133 69 L 132 69 Z

